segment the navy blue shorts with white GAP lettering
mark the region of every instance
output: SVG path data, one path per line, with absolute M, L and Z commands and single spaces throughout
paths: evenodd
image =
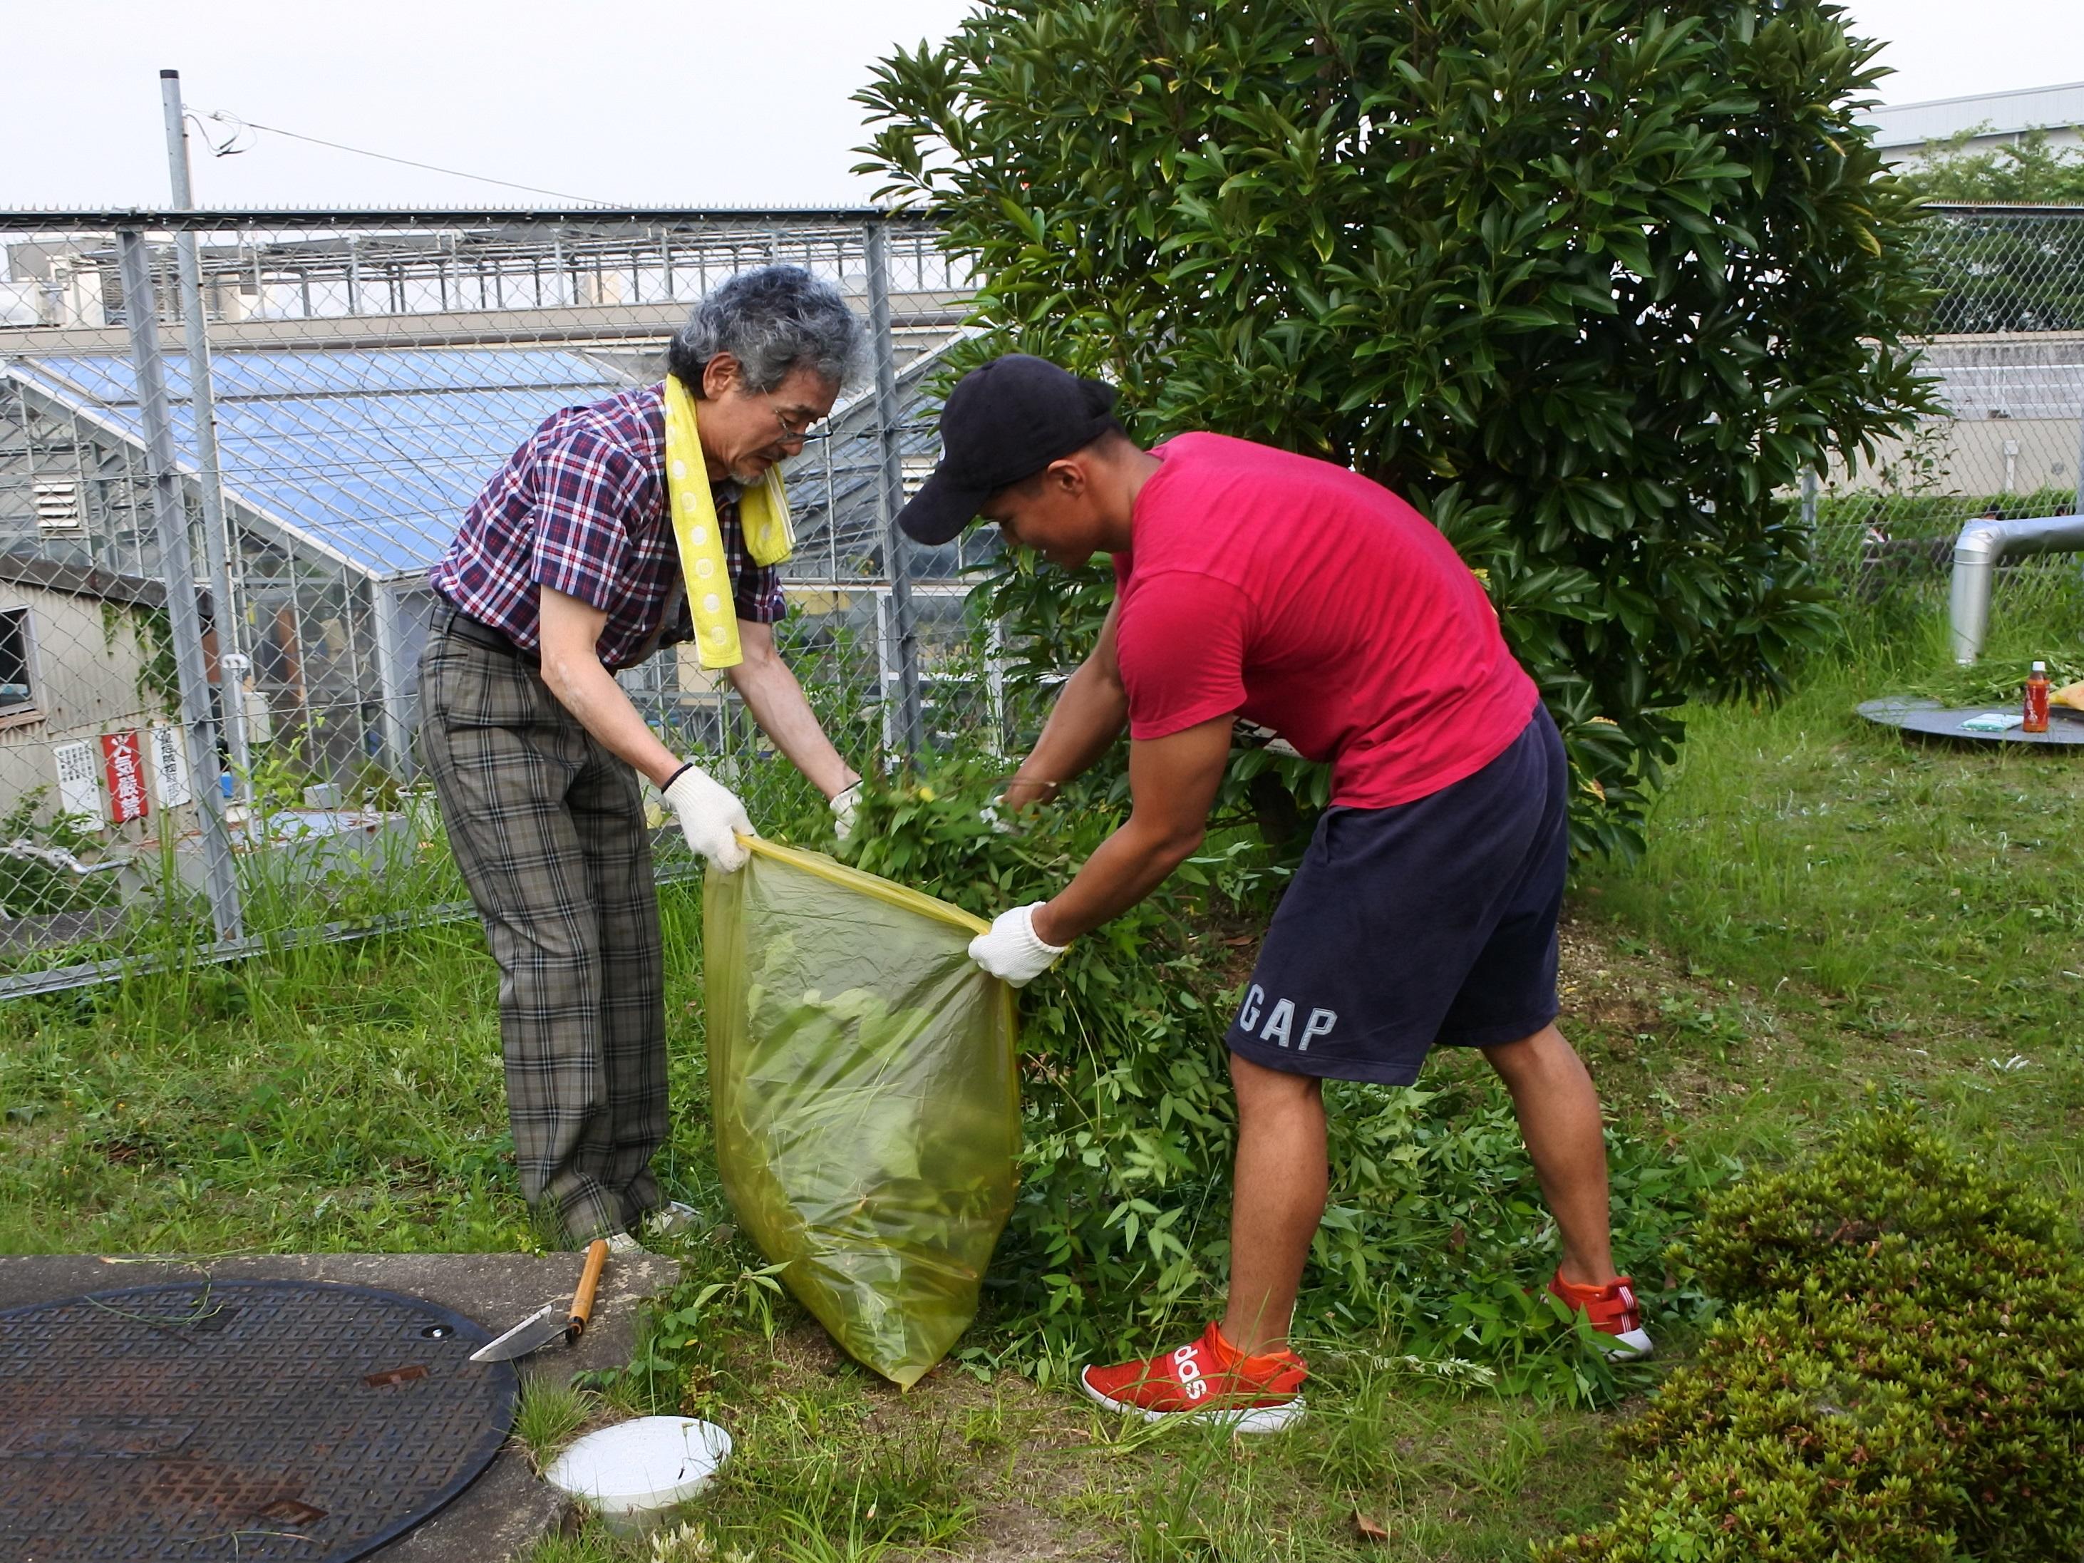
M 1434 1044 L 1557 1017 L 1569 765 L 1542 706 L 1475 775 L 1328 809 L 1252 967 L 1230 1050 L 1292 1075 L 1409 1086 Z

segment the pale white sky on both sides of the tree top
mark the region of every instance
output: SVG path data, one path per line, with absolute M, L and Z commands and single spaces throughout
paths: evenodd
M 2084 81 L 2078 0 L 1849 0 L 1888 102 Z M 848 102 L 967 0 L 15 0 L 0 206 L 167 200 L 158 71 L 190 108 L 615 202 L 859 202 Z M 213 127 L 215 133 L 215 127 Z M 194 148 L 204 206 L 527 204 L 519 190 L 256 133 Z

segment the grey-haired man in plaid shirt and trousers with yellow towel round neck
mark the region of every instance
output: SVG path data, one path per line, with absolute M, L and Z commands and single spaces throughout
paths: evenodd
M 663 1236 L 665 959 L 642 773 L 688 846 L 738 869 L 740 800 L 669 750 L 615 673 L 696 642 L 844 834 L 859 777 L 779 659 L 779 463 L 832 411 L 863 329 L 800 267 L 704 298 L 667 379 L 552 415 L 486 483 L 429 571 L 427 769 L 500 965 L 521 1192 L 573 1242 Z

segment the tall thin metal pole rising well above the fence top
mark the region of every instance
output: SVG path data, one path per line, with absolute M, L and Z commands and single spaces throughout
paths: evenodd
M 188 181 L 188 121 L 181 113 L 181 73 L 158 73 L 160 108 L 167 115 L 167 169 L 173 179 L 173 204 L 183 213 L 196 208 Z M 202 315 L 202 267 L 196 260 L 196 233 L 181 229 L 175 240 L 181 267 L 181 338 L 188 346 L 188 421 L 196 431 L 196 488 L 202 490 L 202 559 L 210 571 L 210 598 L 217 604 L 217 692 L 225 719 L 225 742 L 231 746 L 233 784 L 240 794 L 252 788 L 252 752 L 246 746 L 246 638 L 242 604 L 231 596 L 231 534 L 225 525 L 225 481 L 217 461 L 217 396 L 210 381 L 210 329 Z

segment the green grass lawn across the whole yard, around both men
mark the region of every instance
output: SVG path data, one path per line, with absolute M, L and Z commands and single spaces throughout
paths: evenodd
M 1646 857 L 1578 886 L 1565 1025 L 1617 1123 L 1678 1155 L 1782 1161 L 1882 1096 L 2074 1200 L 2084 765 L 1911 746 L 1857 721 L 1851 706 L 1874 694 L 1965 688 L 1932 613 L 1901 617 L 1894 631 L 1863 625 L 1776 709 L 1688 715 Z M 2074 573 L 2015 584 L 1996 625 L 1984 677 L 2030 654 L 2078 659 L 2084 592 Z M 665 911 L 681 1111 L 661 1173 L 721 1219 L 692 894 L 667 890 Z M 0 1109 L 8 1252 L 546 1238 L 513 1184 L 494 971 L 473 925 L 10 1004 Z M 727 1232 L 684 1259 L 721 1282 L 759 1263 Z M 577 1407 L 606 1417 L 663 1396 L 731 1428 L 740 1455 L 702 1534 L 634 1550 L 581 1534 L 534 1563 L 1473 1563 L 1594 1523 L 1619 1482 L 1605 1415 L 1444 1378 L 1396 1342 L 1319 1348 L 1302 1430 L 1232 1444 L 1125 1430 L 1009 1375 L 942 1369 L 900 1396 L 792 1305 L 769 1340 L 756 1300 L 746 1284 L 719 1298 L 673 1380 L 625 1380 Z M 1671 1344 L 1684 1353 L 1684 1336 Z M 529 1425 L 554 1440 L 571 1411 L 544 1407 Z

